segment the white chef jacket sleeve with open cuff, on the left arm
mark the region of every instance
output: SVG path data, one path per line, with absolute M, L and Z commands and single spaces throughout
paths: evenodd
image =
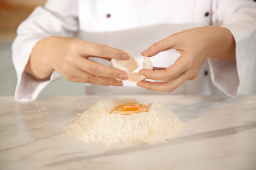
M 19 25 L 12 43 L 12 61 L 17 74 L 16 101 L 32 101 L 51 81 L 61 75 L 53 72 L 49 80 L 36 80 L 24 73 L 35 43 L 50 36 L 75 37 L 78 31 L 77 1 L 50 0 L 45 7 L 37 7 Z

